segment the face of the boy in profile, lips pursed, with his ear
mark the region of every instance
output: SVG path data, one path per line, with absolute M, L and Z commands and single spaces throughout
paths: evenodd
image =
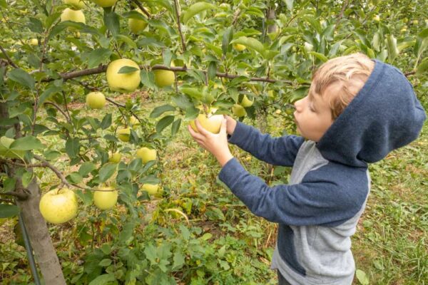
M 333 83 L 325 90 L 324 95 L 310 93 L 295 102 L 294 116 L 297 133 L 314 142 L 318 142 L 322 138 L 334 121 L 329 102 L 332 95 L 337 92 L 340 92 L 340 86 Z

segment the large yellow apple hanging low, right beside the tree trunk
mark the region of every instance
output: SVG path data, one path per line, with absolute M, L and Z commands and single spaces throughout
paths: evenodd
M 46 221 L 62 224 L 77 215 L 77 197 L 68 188 L 54 189 L 40 199 L 39 209 Z

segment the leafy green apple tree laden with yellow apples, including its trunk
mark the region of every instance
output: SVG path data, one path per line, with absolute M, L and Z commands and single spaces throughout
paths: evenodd
M 44 282 L 66 284 L 50 224 L 78 217 L 82 233 L 83 220 L 93 227 L 110 219 L 119 248 L 133 246 L 146 211 L 140 202 L 168 195 L 163 148 L 195 118 L 213 132 L 221 114 L 262 129 L 271 113 L 291 122 L 291 104 L 307 92 L 313 68 L 357 51 L 424 76 L 427 24 L 407 29 L 409 7 L 396 2 L 403 8 L 386 1 L 0 0 L 0 211 L 21 212 Z M 145 96 L 159 93 L 168 102 L 143 114 Z M 132 95 L 114 99 L 121 94 Z M 56 181 L 42 180 L 40 170 Z M 93 203 L 98 217 L 86 210 Z M 116 203 L 125 210 L 112 217 Z M 101 247 L 88 264 L 110 252 Z M 96 268 L 73 283 L 148 278 L 143 264 L 123 275 Z M 159 268 L 159 284 L 175 284 L 172 269 Z

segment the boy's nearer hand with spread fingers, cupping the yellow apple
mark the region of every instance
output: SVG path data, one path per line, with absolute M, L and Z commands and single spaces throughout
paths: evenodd
M 228 147 L 228 133 L 226 133 L 227 129 L 227 120 L 224 119 L 221 123 L 220 133 L 214 134 L 205 130 L 199 123 L 198 119 L 195 120 L 196 128 L 198 128 L 198 132 L 196 133 L 190 125 L 188 125 L 188 130 L 190 135 L 192 135 L 193 139 L 198 142 L 198 144 L 211 152 L 215 158 L 217 158 L 220 165 L 223 166 L 230 159 L 233 158 L 233 155 L 230 153 Z

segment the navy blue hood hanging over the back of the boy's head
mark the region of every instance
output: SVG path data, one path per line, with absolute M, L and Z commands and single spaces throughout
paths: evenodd
M 317 142 L 317 148 L 327 160 L 367 167 L 415 140 L 426 118 L 403 73 L 374 60 L 365 85 Z

